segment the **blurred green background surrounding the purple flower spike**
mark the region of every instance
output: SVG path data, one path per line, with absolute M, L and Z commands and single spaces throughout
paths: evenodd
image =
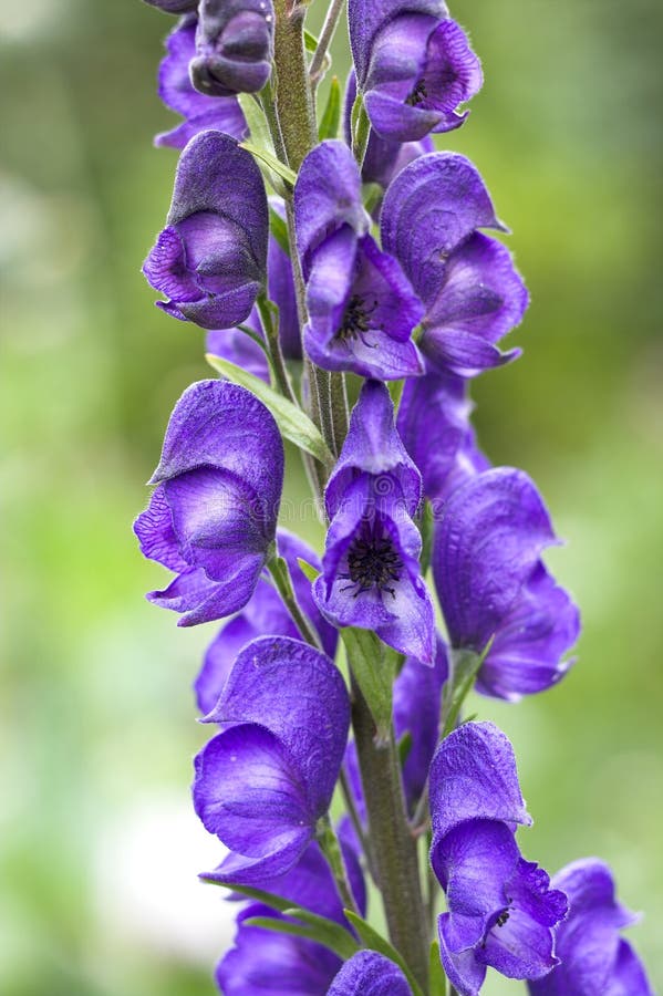
M 517 749 L 524 850 L 551 871 L 605 858 L 663 986 L 663 12 L 453 12 L 486 85 L 441 145 L 484 173 L 532 293 L 525 356 L 476 384 L 477 424 L 540 485 L 568 540 L 549 563 L 584 618 L 561 686 L 478 707 Z M 154 87 L 168 27 L 138 0 L 0 0 L 3 996 L 211 994 L 231 935 L 196 881 L 219 850 L 187 788 L 210 632 L 143 600 L 164 578 L 131 535 L 173 403 L 208 375 L 198 330 L 139 273 L 176 162 L 151 146 L 174 121 Z

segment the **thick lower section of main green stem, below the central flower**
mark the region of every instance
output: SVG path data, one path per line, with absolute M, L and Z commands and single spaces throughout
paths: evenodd
M 425 992 L 428 930 L 417 847 L 407 823 L 393 730 L 384 746 L 376 746 L 375 724 L 354 678 L 352 695 L 352 726 L 369 815 L 369 837 L 390 938 Z

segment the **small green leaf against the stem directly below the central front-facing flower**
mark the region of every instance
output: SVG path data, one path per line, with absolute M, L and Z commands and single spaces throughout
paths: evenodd
M 341 636 L 362 695 L 376 726 L 376 743 L 386 743 L 392 723 L 392 684 L 395 658 L 371 630 L 346 626 Z

